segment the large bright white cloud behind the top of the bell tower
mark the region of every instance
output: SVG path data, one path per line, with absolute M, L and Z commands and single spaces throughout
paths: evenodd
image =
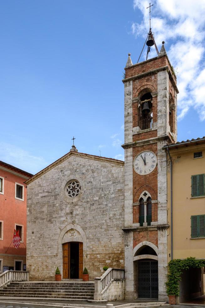
M 143 20 L 136 20 L 131 26 L 132 33 L 145 36 L 149 31 L 149 2 L 134 0 L 134 9 L 143 14 Z M 167 54 L 173 67 L 178 71 L 178 119 L 184 118 L 193 107 L 200 120 L 205 120 L 205 1 L 198 0 L 156 0 L 151 8 L 151 26 L 158 47 L 161 41 L 171 44 Z M 165 45 L 166 47 L 166 45 Z M 167 49 L 167 47 L 166 47 Z M 146 52 L 145 52 L 146 54 Z M 144 56 L 145 56 L 144 54 Z M 142 55 L 143 56 L 143 55 Z M 154 48 L 150 57 L 156 56 Z M 144 60 L 144 59 L 143 59 Z

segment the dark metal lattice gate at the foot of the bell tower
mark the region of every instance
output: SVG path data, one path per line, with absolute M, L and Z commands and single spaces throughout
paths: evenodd
M 138 297 L 158 299 L 158 261 L 138 261 Z

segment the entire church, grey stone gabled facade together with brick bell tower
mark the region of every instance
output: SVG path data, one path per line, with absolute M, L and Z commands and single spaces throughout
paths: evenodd
M 124 83 L 125 161 L 78 153 L 29 179 L 27 269 L 31 280 L 125 269 L 125 299 L 167 300 L 167 154 L 176 142 L 176 76 L 164 44 Z

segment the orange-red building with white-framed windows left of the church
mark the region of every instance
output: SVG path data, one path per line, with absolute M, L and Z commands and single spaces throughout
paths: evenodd
M 0 273 L 26 269 L 27 192 L 24 182 L 31 176 L 0 161 Z M 18 249 L 11 244 L 14 229 L 21 237 Z

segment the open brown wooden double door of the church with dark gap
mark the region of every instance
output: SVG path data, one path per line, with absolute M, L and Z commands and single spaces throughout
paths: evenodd
M 83 272 L 83 243 L 63 244 L 63 278 L 79 279 Z

